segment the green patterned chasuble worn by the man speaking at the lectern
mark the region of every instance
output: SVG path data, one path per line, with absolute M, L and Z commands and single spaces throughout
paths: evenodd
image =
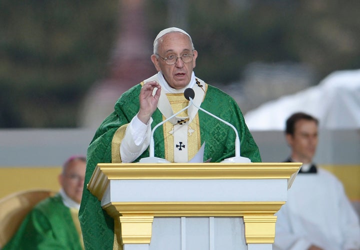
M 138 112 L 140 89 L 141 84 L 137 84 L 120 96 L 114 111 L 101 123 L 88 147 L 85 184 L 79 210 L 85 249 L 112 249 L 113 247 L 113 219 L 102 210 L 100 201 L 86 189 L 86 185 L 97 163 L 111 162 L 112 137 L 120 126 L 129 123 Z M 240 137 L 241 156 L 250 158 L 252 162 L 260 162 L 257 145 L 248 131 L 235 100 L 216 87 L 207 85 L 204 89 L 206 92 L 201 107 L 233 124 Z M 235 156 L 235 133 L 232 128 L 201 110 L 198 111 L 198 117 L 201 144 L 206 141 L 203 158 L 211 158 L 211 162 L 219 162 Z M 152 128 L 162 121 L 163 116 L 158 109 L 152 114 L 152 119 Z M 163 138 L 162 129 L 156 129 L 154 132 L 154 156 L 156 157 L 164 158 Z M 146 149 L 135 161 L 148 156 L 149 152 Z

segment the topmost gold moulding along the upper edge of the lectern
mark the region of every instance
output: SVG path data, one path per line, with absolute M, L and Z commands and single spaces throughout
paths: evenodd
M 99 200 L 110 179 L 290 179 L 301 163 L 98 163 L 87 189 Z M 288 183 L 288 186 L 291 182 Z

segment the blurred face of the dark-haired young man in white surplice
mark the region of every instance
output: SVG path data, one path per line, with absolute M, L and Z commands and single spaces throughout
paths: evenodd
M 292 157 L 303 163 L 310 163 L 316 151 L 317 124 L 313 120 L 300 119 L 295 123 L 294 134 L 286 134 L 291 146 Z

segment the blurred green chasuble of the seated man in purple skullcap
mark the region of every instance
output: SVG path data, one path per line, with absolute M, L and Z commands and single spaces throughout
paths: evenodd
M 2 248 L 9 249 L 82 249 L 70 209 L 63 204 L 60 194 L 34 206 Z

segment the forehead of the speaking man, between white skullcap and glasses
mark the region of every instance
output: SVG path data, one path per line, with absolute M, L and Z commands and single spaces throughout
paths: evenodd
M 163 51 L 170 50 L 191 50 L 189 37 L 181 32 L 170 32 L 164 34 L 159 40 L 159 49 Z

